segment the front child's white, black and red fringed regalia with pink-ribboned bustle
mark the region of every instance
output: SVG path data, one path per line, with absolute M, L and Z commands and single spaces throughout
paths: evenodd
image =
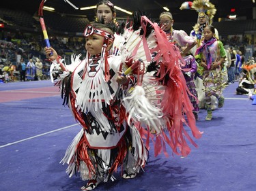
M 152 28 L 150 35 L 145 35 L 147 27 Z M 107 40 L 105 32 L 93 27 L 89 31 Z M 184 124 L 195 138 L 201 137 L 180 71 L 180 53 L 158 24 L 143 16 L 140 29 L 125 29 L 116 36 L 114 49 L 114 55 L 102 48 L 100 55 L 87 54 L 85 60 L 74 56 L 59 75 L 64 101 L 83 127 L 61 160 L 69 164 L 70 177 L 79 171 L 84 180 L 107 181 L 119 166 L 128 174 L 139 173 L 147 162 L 150 139 L 155 156 L 168 155 L 166 145 L 187 156 L 186 139 L 197 145 Z M 152 63 L 154 69 L 149 70 Z M 126 84 L 117 84 L 117 71 L 127 75 Z

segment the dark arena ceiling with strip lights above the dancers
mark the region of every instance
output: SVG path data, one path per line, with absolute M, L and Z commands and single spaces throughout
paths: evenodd
M 29 14 L 33 15 L 38 12 L 38 7 L 42 0 L 14 0 L 14 1 L 4 1 L 1 7 L 9 8 L 12 10 L 24 10 Z M 76 7 L 85 7 L 96 5 L 98 0 L 67 0 Z M 122 7 L 130 12 L 143 11 L 146 12 L 152 19 L 157 19 L 160 12 L 165 10 L 162 9 L 163 6 L 169 8 L 170 12 L 173 14 L 175 22 L 194 22 L 197 19 L 197 13 L 191 10 L 180 10 L 180 5 L 184 2 L 183 0 L 112 0 L 114 5 Z M 217 12 L 214 20 L 218 18 L 226 18 L 231 12 L 231 9 L 236 10 L 238 16 L 246 16 L 248 19 L 253 18 L 253 7 L 256 7 L 256 3 L 253 0 L 211 0 L 216 6 Z M 95 13 L 94 10 L 75 10 L 66 0 L 47 0 L 45 5 L 50 7 L 55 7 L 55 12 L 60 14 L 76 14 L 87 16 L 89 20 L 93 20 Z M 124 12 L 117 11 L 117 17 L 127 18 L 128 14 Z

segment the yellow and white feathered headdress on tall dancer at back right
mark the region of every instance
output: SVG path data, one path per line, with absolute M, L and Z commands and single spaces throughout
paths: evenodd
M 186 1 L 180 6 L 180 10 L 196 10 L 198 17 L 208 16 L 208 24 L 212 24 L 212 19 L 216 14 L 215 5 L 209 0 Z

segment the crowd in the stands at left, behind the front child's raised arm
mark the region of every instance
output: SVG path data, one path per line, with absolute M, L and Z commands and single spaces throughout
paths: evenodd
M 61 56 L 78 54 L 84 47 L 83 41 L 67 40 L 64 37 L 52 37 L 51 44 L 57 47 Z M 50 78 L 50 62 L 42 52 L 43 46 L 40 37 L 37 39 L 35 35 L 24 36 L 20 32 L 16 34 L 2 33 L 0 39 L 0 82 L 48 80 Z M 35 66 L 37 60 L 42 63 L 42 68 Z M 25 69 L 21 67 L 22 63 L 26 64 Z M 26 71 L 25 79 L 24 71 Z

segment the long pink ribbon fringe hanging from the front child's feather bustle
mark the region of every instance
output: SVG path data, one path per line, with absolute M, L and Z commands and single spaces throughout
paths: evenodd
M 158 156 L 158 154 L 163 152 L 165 156 L 168 156 L 165 144 L 167 143 L 173 150 L 173 153 L 187 156 L 190 153 L 190 147 L 186 143 L 186 139 L 195 147 L 197 147 L 197 144 L 184 129 L 184 124 L 190 128 L 193 137 L 196 139 L 199 139 L 202 133 L 196 126 L 193 115 L 194 108 L 187 94 L 189 90 L 180 69 L 180 62 L 183 61 L 183 58 L 180 55 L 180 50 L 174 44 L 169 43 L 165 32 L 160 30 L 156 23 L 152 23 L 145 16 L 141 20 L 145 26 L 151 24 L 154 28 L 158 46 L 150 51 L 151 54 L 158 52 L 154 61 L 160 65 L 158 71 L 158 76 L 160 76 L 159 81 L 163 82 L 162 85 L 166 86 L 165 94 L 161 101 L 161 108 L 165 114 L 165 118 L 169 118 L 170 120 L 166 124 L 169 136 L 167 136 L 165 131 L 162 131 L 160 135 L 156 135 L 152 139 L 154 143 L 154 154 Z M 169 75 L 169 80 L 166 80 L 166 75 Z M 149 138 L 147 135 L 147 142 Z

